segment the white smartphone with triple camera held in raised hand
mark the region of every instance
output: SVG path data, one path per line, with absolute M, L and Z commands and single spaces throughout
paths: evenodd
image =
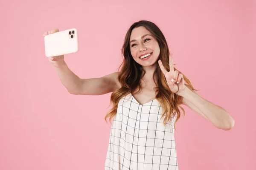
M 76 28 L 44 36 L 44 47 L 46 57 L 76 53 L 79 50 Z

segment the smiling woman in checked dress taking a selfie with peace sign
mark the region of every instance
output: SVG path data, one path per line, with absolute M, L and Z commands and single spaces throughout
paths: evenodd
M 45 32 L 44 36 L 58 31 Z M 71 94 L 111 94 L 113 118 L 105 170 L 177 170 L 175 122 L 186 105 L 215 127 L 230 130 L 234 120 L 223 108 L 199 96 L 189 79 L 173 64 L 160 29 L 152 22 L 134 23 L 122 47 L 119 72 L 80 79 L 64 62 L 50 57 Z

